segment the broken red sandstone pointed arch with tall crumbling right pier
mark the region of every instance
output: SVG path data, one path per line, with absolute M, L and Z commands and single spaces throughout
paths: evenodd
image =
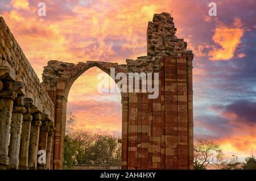
M 55 104 L 53 169 L 62 168 L 65 114 L 73 82 L 96 66 L 110 75 L 159 73 L 159 96 L 148 92 L 121 93 L 122 169 L 192 169 L 192 51 L 175 36 L 170 14 L 155 14 L 148 22 L 147 56 L 126 60 L 126 64 L 87 61 L 71 64 L 49 61 L 43 71 L 43 85 Z M 128 82 L 128 81 L 127 81 Z

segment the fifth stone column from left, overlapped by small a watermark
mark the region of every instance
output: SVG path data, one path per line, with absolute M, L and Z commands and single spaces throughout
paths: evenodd
M 48 115 L 43 114 L 42 116 L 43 125 L 40 128 L 40 134 L 39 134 L 39 150 L 47 151 L 48 132 L 49 132 L 48 121 L 49 121 Z M 45 163 L 38 162 L 38 169 L 46 170 L 46 162 Z

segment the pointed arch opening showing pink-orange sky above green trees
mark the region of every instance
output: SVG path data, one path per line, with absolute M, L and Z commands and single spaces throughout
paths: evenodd
M 71 166 L 68 159 L 73 169 L 121 169 L 121 93 L 98 91 L 102 82 L 109 90 L 115 86 L 109 75 L 108 70 L 92 65 L 80 70 L 66 86 L 64 169 Z

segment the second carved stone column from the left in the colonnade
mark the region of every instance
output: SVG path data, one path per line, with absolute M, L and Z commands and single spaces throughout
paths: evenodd
M 13 116 L 11 118 L 8 169 L 18 169 L 19 167 L 20 134 L 22 132 L 23 115 L 27 111 L 23 103 L 23 83 L 14 82 L 13 86 L 13 89 L 16 91 L 18 97 L 14 100 Z

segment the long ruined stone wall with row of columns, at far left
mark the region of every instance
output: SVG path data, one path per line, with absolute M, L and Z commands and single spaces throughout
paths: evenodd
M 49 169 L 55 107 L 0 17 L 0 170 Z M 38 151 L 46 163 L 38 163 Z

